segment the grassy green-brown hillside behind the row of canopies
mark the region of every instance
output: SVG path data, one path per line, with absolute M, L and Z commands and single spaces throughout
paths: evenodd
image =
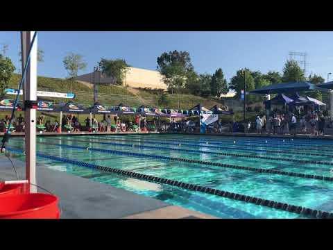
M 17 88 L 20 75 L 15 74 L 9 84 L 9 88 Z M 60 78 L 50 78 L 38 76 L 37 89 L 54 91 L 54 92 L 70 92 L 72 85 L 72 92 L 76 94 L 73 100 L 85 106 L 92 105 L 94 101 L 93 86 L 77 81 L 69 81 Z M 8 96 L 12 98 L 13 96 Z M 128 106 L 151 106 L 160 108 L 179 108 L 188 109 L 192 108 L 198 103 L 201 103 L 207 108 L 211 108 L 215 104 L 222 105 L 221 101 L 217 99 L 205 99 L 197 97 L 192 94 L 168 94 L 170 100 L 169 106 L 164 107 L 159 103 L 160 94 L 153 91 L 134 90 L 117 85 L 99 85 L 99 102 L 107 106 L 115 106 L 119 103 L 124 103 Z M 56 103 L 68 101 L 68 99 L 49 99 Z

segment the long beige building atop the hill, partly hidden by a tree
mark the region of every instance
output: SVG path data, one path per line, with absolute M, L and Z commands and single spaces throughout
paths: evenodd
M 99 72 L 83 74 L 76 78 L 76 81 L 83 81 L 87 83 L 111 83 L 111 78 L 103 76 Z M 167 85 L 162 81 L 160 72 L 149 69 L 139 69 L 130 67 L 123 79 L 123 85 L 132 88 L 151 88 L 151 89 L 164 89 L 167 90 Z

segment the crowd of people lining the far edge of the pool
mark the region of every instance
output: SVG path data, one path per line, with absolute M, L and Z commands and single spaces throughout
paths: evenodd
M 325 135 L 325 128 L 333 127 L 332 122 L 326 122 L 325 113 L 311 112 L 307 115 L 299 115 L 295 113 L 273 113 L 266 115 L 257 115 L 255 121 L 241 124 L 231 122 L 229 124 L 221 124 L 215 122 L 206 126 L 206 133 L 265 133 L 273 135 L 296 135 L 296 133 L 310 135 Z M 110 115 L 105 115 L 103 119 L 98 121 L 96 117 L 87 117 L 84 123 L 81 124 L 76 115 L 63 115 L 61 124 L 58 120 L 51 122 L 49 119 L 45 121 L 44 115 L 37 117 L 37 130 L 46 132 L 70 131 L 89 131 L 89 132 L 148 132 L 157 131 L 171 133 L 199 133 L 200 123 L 195 119 L 173 118 L 167 122 L 161 122 L 157 126 L 157 119 L 154 117 L 151 121 L 147 121 L 146 117 L 136 115 L 133 122 L 130 120 L 121 120 L 121 117 L 115 115 L 114 122 Z M 0 119 L 0 131 L 5 132 L 8 129 L 10 116 Z M 61 127 L 60 127 L 61 126 Z M 12 118 L 10 126 L 11 131 L 24 132 L 25 122 L 22 114 L 19 117 Z

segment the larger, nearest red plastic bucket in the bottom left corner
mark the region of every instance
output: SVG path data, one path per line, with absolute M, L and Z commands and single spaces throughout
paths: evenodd
M 59 219 L 58 201 L 42 193 L 0 197 L 0 219 Z

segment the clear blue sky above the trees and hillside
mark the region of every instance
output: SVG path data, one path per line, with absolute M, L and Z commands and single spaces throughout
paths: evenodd
M 9 45 L 7 56 L 17 67 L 19 38 L 19 32 L 0 32 L 0 45 Z M 79 74 L 92 72 L 102 57 L 123 58 L 133 67 L 155 70 L 157 56 L 176 49 L 189 51 L 196 72 L 212 74 L 221 67 L 230 81 L 241 67 L 282 72 L 289 51 L 297 51 L 307 53 L 307 72 L 326 80 L 333 72 L 332 41 L 333 32 L 40 32 L 44 63 L 39 63 L 38 74 L 65 78 L 62 59 L 71 51 L 87 62 Z

